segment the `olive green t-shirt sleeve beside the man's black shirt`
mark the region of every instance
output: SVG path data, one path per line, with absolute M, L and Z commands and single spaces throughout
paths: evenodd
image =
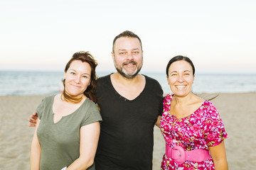
M 102 121 L 100 111 L 97 107 L 97 104 L 90 103 L 90 107 L 87 109 L 84 120 L 82 120 L 81 127 L 89 125 L 90 123 L 95 123 L 97 121 Z

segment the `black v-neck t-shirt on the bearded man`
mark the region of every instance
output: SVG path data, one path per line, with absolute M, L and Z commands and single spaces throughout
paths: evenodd
M 95 164 L 97 170 L 152 169 L 153 130 L 163 111 L 163 91 L 155 79 L 129 101 L 112 86 L 110 75 L 97 82 L 102 123 Z

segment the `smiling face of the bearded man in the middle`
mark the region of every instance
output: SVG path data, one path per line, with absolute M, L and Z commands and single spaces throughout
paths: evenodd
M 134 78 L 142 69 L 143 51 L 137 38 L 118 38 L 114 42 L 112 58 L 117 72 L 127 79 Z

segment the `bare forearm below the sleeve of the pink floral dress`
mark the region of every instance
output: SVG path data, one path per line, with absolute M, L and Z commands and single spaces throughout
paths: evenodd
M 213 158 L 215 170 L 228 170 L 228 162 L 225 153 L 224 140 L 215 147 L 210 148 L 210 155 Z

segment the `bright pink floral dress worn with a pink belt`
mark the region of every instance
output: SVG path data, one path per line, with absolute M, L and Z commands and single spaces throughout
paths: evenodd
M 200 108 L 186 118 L 177 119 L 171 115 L 171 98 L 168 94 L 164 98 L 164 111 L 161 118 L 161 132 L 166 144 L 170 147 L 181 146 L 184 150 L 206 149 L 219 145 L 228 134 L 225 132 L 220 115 L 213 103 L 204 101 Z M 215 169 L 213 159 L 204 162 L 185 161 L 176 164 L 173 159 L 164 154 L 161 169 Z

